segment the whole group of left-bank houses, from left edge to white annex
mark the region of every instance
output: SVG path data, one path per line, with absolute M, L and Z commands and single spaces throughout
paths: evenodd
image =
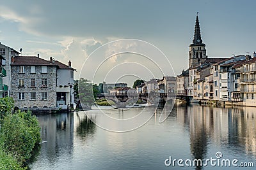
M 74 107 L 71 61 L 66 65 L 52 57 L 20 54 L 0 43 L 0 97 L 13 97 L 18 108 Z

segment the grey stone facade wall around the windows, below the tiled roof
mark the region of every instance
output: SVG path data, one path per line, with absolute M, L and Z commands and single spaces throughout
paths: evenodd
M 47 66 L 47 73 L 41 73 L 41 66 L 36 66 L 36 73 L 30 73 L 30 66 L 24 66 L 24 73 L 19 73 L 19 66 L 12 66 L 11 93 L 15 106 L 19 108 L 56 107 L 56 66 Z M 31 87 L 31 78 L 35 78 L 35 87 Z M 47 79 L 47 87 L 42 87 L 42 78 Z M 24 87 L 19 87 L 19 79 L 24 79 Z M 24 92 L 24 100 L 19 100 L 19 92 Z M 30 93 L 36 92 L 36 99 L 30 99 Z M 47 92 L 47 100 L 42 100 L 42 92 Z

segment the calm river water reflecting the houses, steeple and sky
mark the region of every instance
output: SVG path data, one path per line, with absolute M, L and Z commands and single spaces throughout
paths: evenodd
M 141 110 L 143 108 L 108 112 L 115 117 L 124 117 L 136 115 Z M 104 121 L 98 112 L 86 113 L 96 122 Z M 29 166 L 31 169 L 256 167 L 256 108 L 175 106 L 166 121 L 159 124 L 160 113 L 161 109 L 158 109 L 147 124 L 124 133 L 101 129 L 86 117 L 84 111 L 38 115 L 42 140 L 47 142 L 42 143 L 40 152 Z M 171 162 L 173 159 L 184 161 L 180 166 L 177 161 L 173 165 L 166 160 L 170 157 Z M 207 162 L 211 158 L 216 160 L 215 164 L 214 160 Z M 193 164 L 194 159 L 202 160 L 202 166 Z M 221 167 L 223 159 L 230 160 L 230 167 L 228 164 Z M 232 165 L 234 159 L 237 161 Z M 241 167 L 252 166 L 250 162 L 254 168 Z M 168 164 L 170 166 L 166 166 Z

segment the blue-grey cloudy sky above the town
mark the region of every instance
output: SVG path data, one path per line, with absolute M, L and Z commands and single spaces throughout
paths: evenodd
M 188 46 L 192 43 L 197 12 L 208 57 L 253 55 L 255 7 L 253 0 L 8 0 L 0 4 L 0 41 L 15 50 L 22 48 L 22 55 L 39 53 L 43 59 L 52 56 L 65 64 L 71 60 L 77 69 L 76 79 L 91 79 L 99 72 L 100 61 L 128 50 L 133 53 L 110 57 L 94 81 L 128 81 L 131 85 L 137 78 L 174 76 L 188 68 Z M 115 41 L 118 39 L 140 41 Z M 149 57 L 138 55 L 142 52 Z M 164 56 L 170 64 L 166 64 Z M 142 65 L 147 68 L 140 70 Z M 163 75 L 156 73 L 154 66 L 160 67 Z M 111 68 L 116 70 L 111 72 Z M 147 74 L 148 70 L 156 74 Z M 110 78 L 106 78 L 106 73 Z M 125 79 L 122 74 L 133 76 Z

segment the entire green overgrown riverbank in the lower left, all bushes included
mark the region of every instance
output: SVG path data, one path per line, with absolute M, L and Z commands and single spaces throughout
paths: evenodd
M 39 145 L 40 126 L 31 112 L 13 111 L 13 99 L 0 99 L 0 169 L 28 169 L 27 161 Z

